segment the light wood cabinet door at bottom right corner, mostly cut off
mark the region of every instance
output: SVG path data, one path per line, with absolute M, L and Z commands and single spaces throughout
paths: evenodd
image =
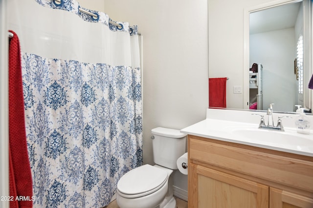
M 289 191 L 270 188 L 269 208 L 313 208 L 313 199 Z

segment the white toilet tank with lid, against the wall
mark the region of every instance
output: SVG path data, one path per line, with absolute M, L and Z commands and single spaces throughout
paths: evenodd
M 151 130 L 153 158 L 157 165 L 176 170 L 177 159 L 186 151 L 185 133 L 158 127 Z

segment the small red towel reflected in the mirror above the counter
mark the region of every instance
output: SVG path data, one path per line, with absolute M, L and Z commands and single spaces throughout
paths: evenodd
M 209 78 L 209 107 L 226 108 L 226 80 L 223 78 Z

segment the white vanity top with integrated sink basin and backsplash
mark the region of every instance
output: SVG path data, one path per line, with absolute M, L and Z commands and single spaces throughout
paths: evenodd
M 264 114 L 261 112 L 261 114 Z M 295 114 L 275 113 L 295 117 Z M 308 115 L 313 124 L 313 115 Z M 206 119 L 181 130 L 182 133 L 225 142 L 249 145 L 313 157 L 313 127 L 310 134 L 296 132 L 294 119 L 284 119 L 285 132 L 258 129 L 260 118 L 250 111 L 207 109 Z

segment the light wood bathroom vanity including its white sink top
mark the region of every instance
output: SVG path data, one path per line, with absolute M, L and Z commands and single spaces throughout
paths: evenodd
M 294 120 L 285 119 L 286 132 L 262 133 L 258 120 L 208 109 L 207 119 L 181 130 L 188 134 L 188 208 L 313 208 L 312 131 L 297 135 Z

